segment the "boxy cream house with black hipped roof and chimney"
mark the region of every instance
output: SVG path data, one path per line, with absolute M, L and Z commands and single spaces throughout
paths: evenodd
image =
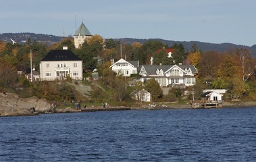
M 40 75 L 41 80 L 63 80 L 67 76 L 73 80 L 82 80 L 82 59 L 68 47 L 51 50 L 40 62 Z

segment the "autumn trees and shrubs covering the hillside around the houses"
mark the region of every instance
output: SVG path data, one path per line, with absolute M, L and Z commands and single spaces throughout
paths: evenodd
M 51 49 L 62 49 L 68 46 L 73 53 L 83 60 L 84 80 L 74 81 L 66 78 L 65 81 L 29 82 L 25 75 L 30 72 L 30 50 L 32 50 L 33 67 L 39 71 L 39 63 Z M 157 53 L 157 49 L 175 49 L 172 58 L 168 58 L 165 51 Z M 47 45 L 28 38 L 24 44 L 6 43 L 0 41 L 0 91 L 16 92 L 21 97 L 36 96 L 56 102 L 61 105 L 70 105 L 71 101 L 81 101 L 84 104 L 111 105 L 143 104 L 136 103 L 130 97 L 135 89 L 145 88 L 152 94 L 153 102 L 188 103 L 192 94 L 184 96 L 184 91 L 195 89 L 195 99 L 200 99 L 205 88 L 226 88 L 224 100 L 234 99 L 241 101 L 256 101 L 255 57 L 247 48 L 233 48 L 226 51 L 203 51 L 197 44 L 186 49 L 182 43 L 174 45 L 164 44 L 157 40 L 148 40 L 145 43 L 122 43 L 122 56 L 126 60 L 138 60 L 141 64 L 149 64 L 154 57 L 156 64 L 178 64 L 188 59 L 198 70 L 197 84 L 193 87 L 169 88 L 163 90 L 155 80 L 145 84 L 137 82 L 129 86 L 128 82 L 136 79 L 138 75 L 129 78 L 116 76 L 109 69 L 111 59 L 120 59 L 120 41 L 108 39 L 103 41 L 99 35 L 88 39 L 80 49 L 75 49 L 72 37 L 63 38 L 57 43 Z M 97 68 L 99 80 L 91 78 L 91 72 Z M 22 74 L 18 74 L 20 71 Z M 87 78 L 87 79 L 86 79 Z

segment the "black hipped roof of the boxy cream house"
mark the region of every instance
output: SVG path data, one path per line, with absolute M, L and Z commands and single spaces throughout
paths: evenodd
M 41 61 L 80 61 L 70 50 L 51 50 Z

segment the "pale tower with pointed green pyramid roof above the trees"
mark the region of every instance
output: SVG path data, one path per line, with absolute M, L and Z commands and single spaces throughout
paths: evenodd
M 91 38 L 92 34 L 84 25 L 84 22 L 79 26 L 78 30 L 76 30 L 74 34 L 74 45 L 76 49 L 78 49 L 86 38 Z

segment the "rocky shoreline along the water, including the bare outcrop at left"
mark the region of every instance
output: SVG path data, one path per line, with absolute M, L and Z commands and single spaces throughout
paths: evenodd
M 224 103 L 223 107 L 255 107 L 256 102 L 247 103 Z M 40 113 L 75 113 L 93 111 L 118 111 L 130 109 L 193 109 L 191 105 L 171 105 L 166 107 L 87 107 L 75 109 L 67 107 L 65 109 L 54 109 L 45 99 L 36 97 L 20 98 L 18 94 L 0 94 L 0 117 L 39 115 Z

